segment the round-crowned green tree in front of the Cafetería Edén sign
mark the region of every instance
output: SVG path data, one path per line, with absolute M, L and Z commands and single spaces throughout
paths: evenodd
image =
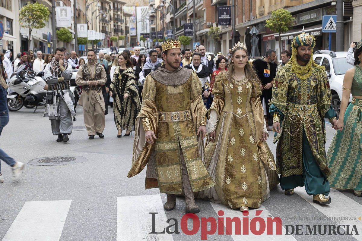
M 271 31 L 279 33 L 279 54 L 282 50 L 280 35 L 292 28 L 294 17 L 286 9 L 277 9 L 271 13 L 271 17 L 266 20 L 265 26 Z

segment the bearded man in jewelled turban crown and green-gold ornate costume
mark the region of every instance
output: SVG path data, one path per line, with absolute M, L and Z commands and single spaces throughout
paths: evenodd
M 292 39 L 290 61 L 277 73 L 269 112 L 274 116 L 277 172 L 285 195 L 304 186 L 313 202 L 331 203 L 324 118 L 335 125 L 325 69 L 313 61 L 315 38 L 303 31 Z

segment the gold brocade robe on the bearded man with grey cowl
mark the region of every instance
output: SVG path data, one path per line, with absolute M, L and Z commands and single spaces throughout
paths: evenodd
M 190 74 L 189 70 L 182 72 Z M 170 78 L 172 75 L 170 74 Z M 203 157 L 203 137 L 196 132 L 206 115 L 201 97 L 201 82 L 195 72 L 181 85 L 165 85 L 151 74 L 145 79 L 142 107 L 136 119 L 132 168 L 128 177 L 142 171 L 147 165 L 145 188 L 160 188 L 161 193 L 182 193 L 181 151 L 184 156 L 191 188 L 194 192 L 215 185 Z M 191 120 L 159 122 L 158 112 L 191 111 Z M 144 139 L 142 119 L 150 120 L 157 139 L 155 144 Z

